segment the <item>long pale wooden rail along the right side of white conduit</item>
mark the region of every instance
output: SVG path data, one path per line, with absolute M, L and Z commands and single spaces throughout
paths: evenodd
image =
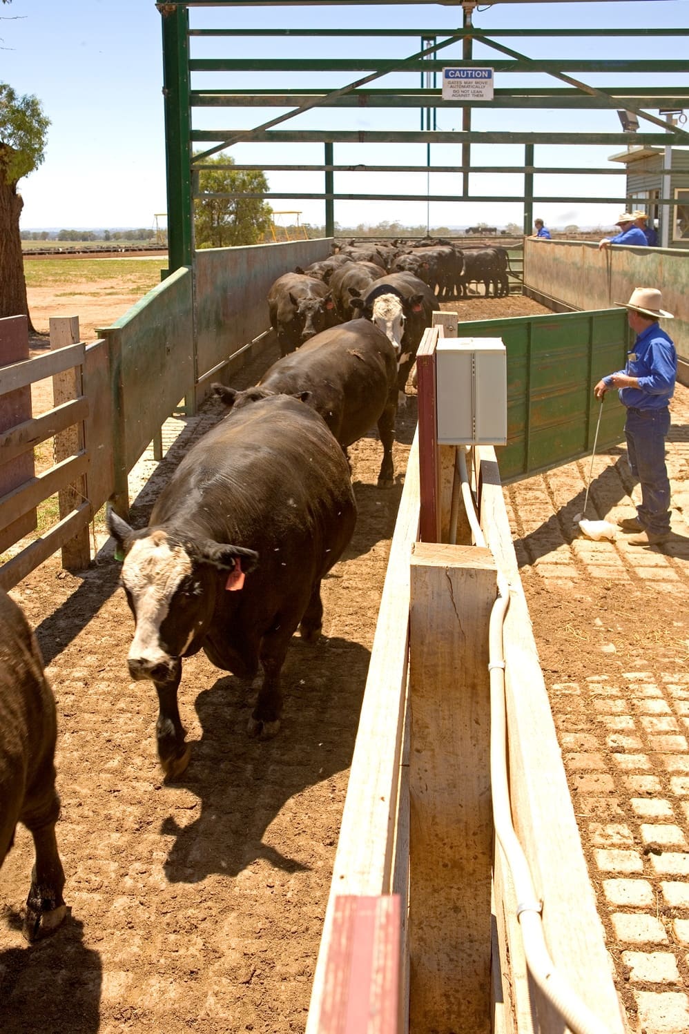
M 620 1002 L 519 579 L 495 450 L 478 447 L 477 455 L 481 526 L 496 562 L 510 582 L 503 639 L 513 822 L 536 892 L 543 899 L 543 929 L 552 962 L 610 1034 L 623 1034 Z M 562 1021 L 533 981 L 530 992 L 539 1030 L 562 1032 Z

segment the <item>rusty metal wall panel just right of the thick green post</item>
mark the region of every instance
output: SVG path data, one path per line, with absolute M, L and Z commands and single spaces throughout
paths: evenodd
M 270 285 L 295 266 L 326 258 L 330 245 L 321 238 L 197 251 L 198 377 L 267 331 Z

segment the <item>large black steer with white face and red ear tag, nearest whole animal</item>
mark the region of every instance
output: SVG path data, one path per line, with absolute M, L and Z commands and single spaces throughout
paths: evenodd
M 297 627 L 321 631 L 321 579 L 349 543 L 356 504 L 342 451 L 301 401 L 271 395 L 236 405 L 192 449 L 133 531 L 112 511 L 125 551 L 122 584 L 136 619 L 132 678 L 157 691 L 158 756 L 179 776 L 189 749 L 177 706 L 182 658 L 263 685 L 251 735 L 279 728 L 279 676 Z

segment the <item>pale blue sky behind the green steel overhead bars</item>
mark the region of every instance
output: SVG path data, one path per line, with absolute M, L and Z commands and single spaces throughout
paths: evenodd
M 450 29 L 459 25 L 461 14 L 456 6 L 441 4 L 399 4 L 394 6 L 332 6 L 332 7 L 236 7 L 205 8 L 191 12 L 196 27 L 369 27 L 384 28 L 391 17 L 397 28 Z M 495 3 L 479 8 L 474 24 L 479 28 L 534 28 L 587 26 L 613 28 L 634 26 L 688 26 L 687 0 L 649 0 L 649 2 L 599 3 Z M 56 226 L 112 227 L 151 226 L 156 213 L 167 208 L 164 182 L 164 134 L 162 112 L 162 63 L 160 14 L 153 0 L 13 0 L 0 5 L 0 80 L 9 83 L 18 93 L 35 94 L 52 121 L 49 130 L 44 163 L 21 181 L 25 209 L 25 229 Z M 507 45 L 531 57 L 570 58 L 576 54 L 576 40 L 507 39 Z M 610 38 L 587 42 L 587 56 L 619 57 L 686 57 L 687 37 L 648 40 L 639 50 L 628 39 Z M 583 45 L 583 44 L 581 44 Z M 360 38 L 356 41 L 307 40 L 295 37 L 256 40 L 224 39 L 192 40 L 192 56 L 247 57 L 261 53 L 269 57 L 299 54 L 322 57 L 343 57 L 348 48 L 355 54 L 372 54 L 385 58 L 405 57 L 419 49 L 416 37 L 400 37 L 384 43 L 381 39 Z M 385 49 L 384 49 L 385 48 Z M 461 51 L 448 51 L 448 64 L 459 63 Z M 490 64 L 488 52 L 476 47 L 475 57 Z M 295 73 L 290 86 L 340 87 L 360 78 L 363 72 L 318 72 L 309 81 L 305 73 Z M 576 75 L 577 73 L 574 72 Z M 593 86 L 634 85 L 630 77 L 580 74 Z M 213 85 L 229 85 L 231 79 L 216 78 Z M 235 80 L 238 86 L 267 86 L 274 81 L 267 73 L 244 72 Z M 498 86 L 528 85 L 529 80 L 514 74 L 497 77 Z M 533 79 L 531 80 L 533 82 Z M 543 80 L 545 82 L 545 80 Z M 550 84 L 557 85 L 553 80 Z M 689 73 L 670 75 L 667 84 L 689 83 Z M 207 81 L 208 85 L 210 81 Z M 418 86 L 419 73 L 388 77 L 386 85 Z M 199 77 L 196 86 L 206 85 Z M 372 84 L 373 86 L 379 84 Z M 201 110 L 196 124 L 208 128 L 241 128 L 264 121 L 277 114 L 275 110 L 247 109 L 243 112 Z M 656 113 L 657 114 L 657 113 Z M 553 113 L 508 111 L 477 111 L 477 129 L 556 130 L 563 120 L 572 127 L 589 131 L 617 132 L 620 129 L 615 112 Z M 419 113 L 413 110 L 344 110 L 305 113 L 294 123 L 299 128 L 419 128 Z M 458 110 L 438 112 L 438 127 L 458 129 Z M 649 123 L 646 127 L 652 129 Z M 610 153 L 623 148 L 563 147 L 537 148 L 536 161 L 551 165 L 605 166 Z M 268 144 L 236 146 L 232 152 L 238 162 L 320 162 L 322 145 L 287 148 Z M 481 164 L 504 161 L 520 164 L 521 147 L 473 148 L 473 159 Z M 433 145 L 431 160 L 438 164 L 458 164 L 460 152 L 454 145 Z M 336 163 L 403 164 L 425 163 L 425 145 L 354 146 L 336 145 Z M 538 178 L 536 189 L 543 194 L 613 194 L 624 195 L 624 177 L 546 177 Z M 272 190 L 323 189 L 322 174 L 269 173 Z M 520 177 L 483 175 L 472 177 L 472 189 L 477 193 L 518 193 Z M 336 187 L 343 192 L 451 193 L 456 178 L 437 174 L 350 174 L 338 175 Z M 323 221 L 323 203 L 308 201 L 280 202 L 275 209 L 300 209 L 303 221 Z M 342 202 L 336 205 L 335 218 L 346 225 L 358 222 L 377 223 L 381 219 L 431 225 L 463 224 L 487 221 L 504 224 L 520 222 L 518 204 L 468 203 L 388 203 Z M 579 225 L 601 223 L 611 225 L 617 216 L 615 206 L 543 203 L 538 213 L 551 225 L 576 222 Z

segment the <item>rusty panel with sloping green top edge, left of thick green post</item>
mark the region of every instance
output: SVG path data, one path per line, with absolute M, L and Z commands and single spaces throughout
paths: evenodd
M 112 364 L 114 444 L 130 470 L 185 395 L 193 392 L 191 272 L 178 269 L 98 330 Z

